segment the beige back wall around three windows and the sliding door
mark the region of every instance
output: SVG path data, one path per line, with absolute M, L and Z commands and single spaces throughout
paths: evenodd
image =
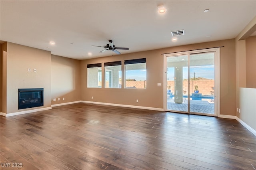
M 206 42 L 164 49 L 142 51 L 123 55 L 114 55 L 96 59 L 81 61 L 81 86 L 83 101 L 94 101 L 103 103 L 115 103 L 123 105 L 135 105 L 143 107 L 163 108 L 163 55 L 178 51 L 204 49 L 210 47 L 220 48 L 220 114 L 235 115 L 236 113 L 236 65 L 235 65 L 235 40 L 222 40 L 216 42 Z M 147 82 L 146 89 L 95 89 L 87 88 L 87 64 L 102 63 L 110 61 L 122 61 L 124 70 L 124 60 L 146 58 Z M 123 76 L 124 77 L 124 73 Z M 104 79 L 104 75 L 102 75 Z M 124 82 L 124 79 L 123 79 Z M 124 84 L 122 82 L 122 84 Z M 93 99 L 91 97 L 93 96 Z M 136 99 L 139 102 L 136 103 Z

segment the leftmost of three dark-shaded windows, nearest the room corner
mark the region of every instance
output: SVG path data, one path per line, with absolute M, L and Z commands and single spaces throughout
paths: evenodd
M 101 88 L 102 71 L 101 63 L 87 65 L 87 87 Z

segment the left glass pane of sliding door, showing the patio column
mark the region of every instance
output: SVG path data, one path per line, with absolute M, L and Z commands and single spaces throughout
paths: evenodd
M 167 58 L 167 109 L 188 112 L 188 56 Z

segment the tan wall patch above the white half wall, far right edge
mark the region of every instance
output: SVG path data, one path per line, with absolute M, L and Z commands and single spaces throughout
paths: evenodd
M 256 88 L 256 36 L 246 39 L 246 87 Z

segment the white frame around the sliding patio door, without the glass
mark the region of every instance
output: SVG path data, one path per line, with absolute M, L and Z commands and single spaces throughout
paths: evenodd
M 214 52 L 214 114 L 200 114 L 200 113 L 190 113 L 188 108 L 189 114 L 196 114 L 196 115 L 208 115 L 208 116 L 219 116 L 220 115 L 220 48 L 209 48 L 209 49 L 198 49 L 192 51 L 183 51 L 183 52 L 174 52 L 164 54 L 164 81 L 163 81 L 163 97 L 164 97 L 164 111 L 167 110 L 167 57 L 178 56 L 178 55 L 191 55 L 194 53 L 207 53 L 207 52 Z M 188 57 L 190 58 L 190 56 Z M 190 62 L 188 61 L 188 66 L 190 66 Z M 188 68 L 189 71 L 189 68 Z M 188 72 L 188 79 L 189 79 L 189 72 Z M 189 82 L 189 81 L 188 81 Z M 182 112 L 181 112 L 182 113 Z

